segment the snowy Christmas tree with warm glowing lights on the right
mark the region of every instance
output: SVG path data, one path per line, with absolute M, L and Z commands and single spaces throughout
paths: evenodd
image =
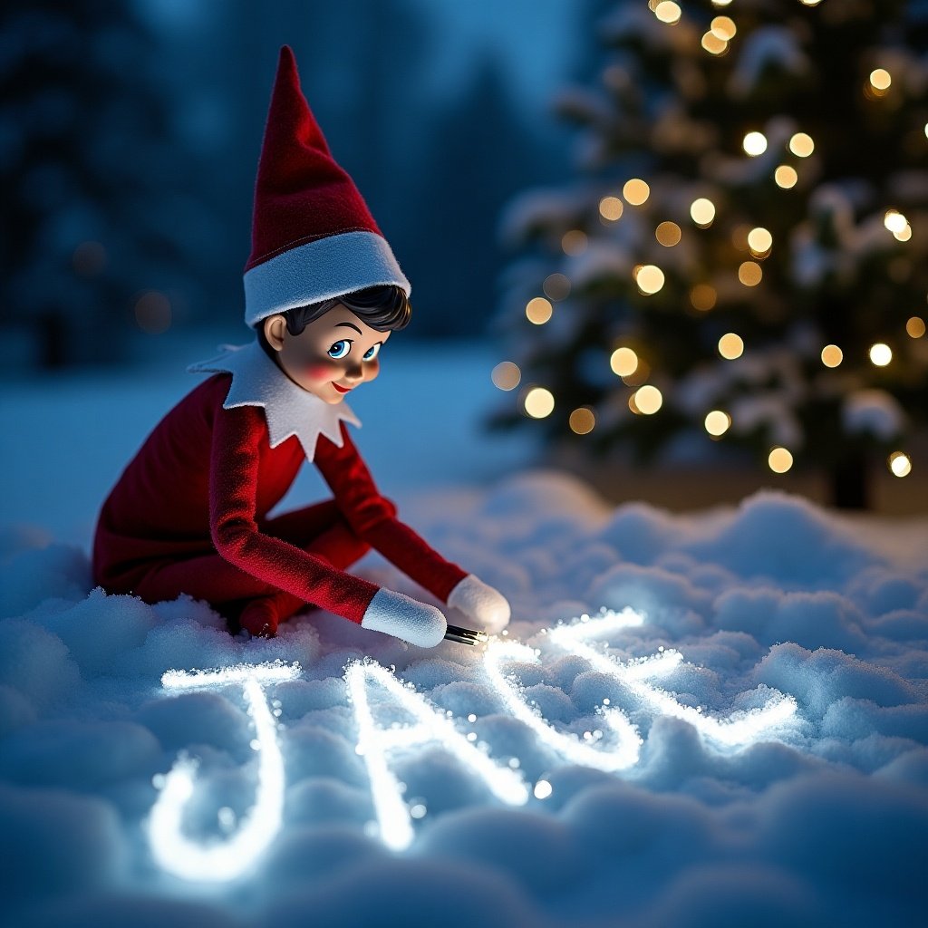
M 559 103 L 580 176 L 505 219 L 497 421 L 639 461 L 749 448 L 865 505 L 928 417 L 924 5 L 640 0 L 601 39 Z

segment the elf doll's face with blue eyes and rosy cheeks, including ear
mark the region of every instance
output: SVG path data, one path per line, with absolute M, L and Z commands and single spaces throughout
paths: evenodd
M 377 377 L 377 354 L 390 338 L 390 332 L 371 329 L 341 303 L 299 335 L 290 335 L 283 316 L 270 316 L 264 320 L 264 334 L 290 380 L 331 404 Z

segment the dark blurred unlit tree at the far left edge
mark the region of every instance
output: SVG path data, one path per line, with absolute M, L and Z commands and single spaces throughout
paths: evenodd
M 35 0 L 0 14 L 0 326 L 58 367 L 171 325 L 200 213 L 134 4 Z

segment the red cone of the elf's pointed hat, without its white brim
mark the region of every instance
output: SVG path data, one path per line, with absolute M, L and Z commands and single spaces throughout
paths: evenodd
M 264 127 L 245 270 L 303 242 L 361 231 L 381 235 L 354 181 L 332 158 L 284 45 Z

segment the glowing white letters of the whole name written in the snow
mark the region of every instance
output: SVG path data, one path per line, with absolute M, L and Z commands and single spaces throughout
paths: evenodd
M 767 690 L 767 700 L 759 708 L 724 718 L 705 715 L 654 683 L 682 663 L 678 651 L 662 649 L 648 658 L 622 662 L 596 643 L 597 638 L 607 638 L 643 621 L 643 616 L 631 609 L 603 611 L 592 618 L 584 615 L 572 624 L 546 629 L 542 637 L 554 649 L 569 651 L 593 670 L 617 681 L 646 715 L 680 718 L 716 750 L 730 751 L 775 736 L 795 715 L 793 697 L 778 690 Z M 506 638 L 496 638 L 487 645 L 483 670 L 505 711 L 530 728 L 538 741 L 565 762 L 609 772 L 634 767 L 642 743 L 638 728 L 608 699 L 597 710 L 601 728 L 586 731 L 582 737 L 553 728 L 527 700 L 521 680 L 507 668 L 513 664 L 538 664 L 539 656 L 540 651 Z M 256 731 L 251 746 L 259 752 L 254 806 L 232 837 L 213 844 L 199 844 L 183 834 L 184 809 L 193 794 L 196 764 L 184 757 L 177 760 L 159 784 L 161 793 L 149 820 L 152 853 L 165 870 L 196 880 L 234 879 L 249 870 L 273 841 L 283 820 L 285 784 L 277 724 L 264 686 L 299 675 L 299 664 L 277 662 L 206 673 L 171 671 L 162 677 L 161 683 L 168 690 L 243 687 Z M 380 840 L 393 850 L 402 850 L 413 841 L 413 819 L 424 814 L 424 806 L 407 804 L 404 786 L 391 767 L 394 754 L 402 752 L 408 757 L 410 752 L 437 744 L 473 777 L 482 780 L 488 793 L 509 806 L 524 805 L 533 793 L 538 798 L 550 794 L 546 780 L 539 780 L 530 790 L 518 758 L 497 762 L 490 746 L 475 743 L 474 732 L 464 734 L 450 713 L 434 706 L 411 684 L 398 680 L 380 664 L 369 660 L 349 664 L 345 685 L 354 709 L 356 751 L 367 767 L 377 830 Z M 399 712 L 412 721 L 406 725 L 395 721 L 389 726 L 380 725 L 377 710 L 389 715 Z M 468 716 L 468 721 L 475 720 L 475 715 Z

